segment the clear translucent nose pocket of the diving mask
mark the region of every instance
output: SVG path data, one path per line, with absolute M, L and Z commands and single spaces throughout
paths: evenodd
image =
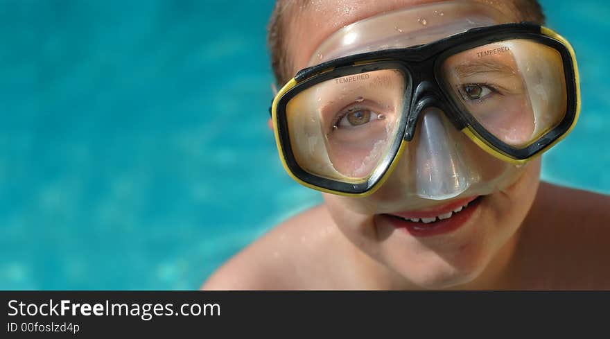
M 421 112 L 411 141 L 415 189 L 421 198 L 444 200 L 466 191 L 473 179 L 467 153 L 460 150 L 460 132 L 435 107 Z

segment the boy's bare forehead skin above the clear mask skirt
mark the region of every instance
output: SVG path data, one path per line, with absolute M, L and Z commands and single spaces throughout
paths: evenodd
M 383 12 L 421 6 L 426 3 L 451 3 L 438 0 L 311 0 L 291 8 L 285 17 L 287 57 L 293 73 L 307 66 L 318 46 L 340 28 Z M 512 1 L 462 0 L 462 3 L 484 3 L 503 12 L 509 21 L 517 21 Z

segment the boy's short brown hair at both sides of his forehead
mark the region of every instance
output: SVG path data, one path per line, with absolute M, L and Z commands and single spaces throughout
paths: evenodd
M 271 68 L 278 85 L 284 85 L 293 77 L 293 64 L 288 57 L 286 41 L 286 17 L 302 11 L 311 0 L 277 0 L 267 26 L 267 44 L 271 55 Z M 544 24 L 544 14 L 537 0 L 509 0 L 510 6 L 518 13 L 521 21 Z

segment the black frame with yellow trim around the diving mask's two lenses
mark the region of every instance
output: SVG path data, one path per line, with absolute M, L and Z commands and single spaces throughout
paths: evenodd
M 464 130 L 464 128 L 471 130 L 482 142 L 482 144 L 479 144 L 480 146 L 486 148 L 486 150 L 489 147 L 488 151 L 499 153 L 503 159 L 514 163 L 523 163 L 531 159 L 552 146 L 573 128 L 580 107 L 573 51 L 555 37 L 544 34 L 544 29 L 546 28 L 530 23 L 473 28 L 467 32 L 452 35 L 429 44 L 412 46 L 406 49 L 390 49 L 349 55 L 302 69 L 292 80 L 293 86 L 288 89 L 284 87 L 273 101 L 275 106 L 272 105 L 274 107 L 270 108 L 270 112 L 275 110 L 276 137 L 279 151 L 284 157 L 286 170 L 299 182 L 314 189 L 345 195 L 363 195 L 385 176 L 397 156 L 402 141 L 410 141 L 413 138 L 419 115 L 428 107 L 437 107 L 442 110 L 458 130 Z M 539 139 L 524 148 L 515 148 L 505 144 L 480 125 L 464 105 L 455 101 L 448 93 L 448 86 L 441 76 L 440 69 L 444 60 L 451 55 L 485 44 L 512 39 L 532 40 L 558 51 L 561 54 L 566 80 L 567 105 L 564 119 L 555 128 L 548 130 Z M 293 155 L 290 136 L 288 135 L 286 105 L 290 99 L 304 89 L 332 78 L 381 69 L 397 69 L 404 73 L 406 104 L 403 114 L 406 114 L 406 119 L 401 119 L 399 137 L 392 142 L 389 153 L 374 173 L 364 182 L 339 182 L 308 173 L 301 168 Z M 290 85 L 290 82 L 288 85 Z

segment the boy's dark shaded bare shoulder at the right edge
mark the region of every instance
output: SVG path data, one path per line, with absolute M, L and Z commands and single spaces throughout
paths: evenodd
M 541 183 L 521 231 L 533 288 L 610 289 L 610 196 Z

